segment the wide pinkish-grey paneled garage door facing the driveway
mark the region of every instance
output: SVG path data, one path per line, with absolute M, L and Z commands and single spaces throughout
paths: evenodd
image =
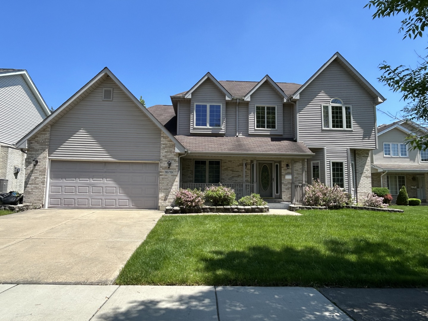
M 158 163 L 52 160 L 48 208 L 158 208 Z

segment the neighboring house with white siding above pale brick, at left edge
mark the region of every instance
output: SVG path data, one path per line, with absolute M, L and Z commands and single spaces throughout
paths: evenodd
M 26 70 L 0 68 L 0 192 L 24 191 L 27 154 L 15 143 L 50 113 Z

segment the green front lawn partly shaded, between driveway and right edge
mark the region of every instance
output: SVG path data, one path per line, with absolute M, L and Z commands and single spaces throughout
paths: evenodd
M 302 213 L 162 217 L 116 283 L 428 286 L 427 206 Z

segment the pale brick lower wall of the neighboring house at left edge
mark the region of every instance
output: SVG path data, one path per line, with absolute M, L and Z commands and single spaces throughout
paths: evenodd
M 27 154 L 12 146 L 0 146 L 0 178 L 7 179 L 7 192 L 24 192 L 25 158 Z M 15 173 L 15 166 L 21 169 Z

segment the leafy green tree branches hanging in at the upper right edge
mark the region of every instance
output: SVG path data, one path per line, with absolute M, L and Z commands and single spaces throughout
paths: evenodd
M 371 0 L 365 7 L 371 6 L 376 9 L 373 19 L 406 15 L 398 30 L 404 33 L 403 39 L 422 37 L 428 27 L 428 0 Z M 428 55 L 418 57 L 416 68 L 392 67 L 384 61 L 379 65 L 383 71 L 379 80 L 393 92 L 402 93 L 401 98 L 407 103 L 401 110 L 402 118 L 425 126 L 428 124 Z M 428 134 L 415 131 L 407 137 L 407 142 L 413 149 L 425 150 L 428 148 Z

